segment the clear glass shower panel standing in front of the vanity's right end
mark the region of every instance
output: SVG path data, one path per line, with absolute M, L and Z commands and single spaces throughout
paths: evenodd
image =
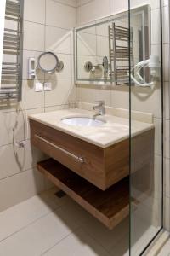
M 129 3 L 130 255 L 139 256 L 162 228 L 161 1 Z

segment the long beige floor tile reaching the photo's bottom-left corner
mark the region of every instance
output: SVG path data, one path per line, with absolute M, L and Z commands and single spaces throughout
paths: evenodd
M 58 209 L 0 243 L 0 255 L 38 256 L 54 247 L 78 225 L 67 212 Z

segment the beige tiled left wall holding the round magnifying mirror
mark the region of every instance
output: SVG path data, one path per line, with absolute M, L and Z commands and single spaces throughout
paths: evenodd
M 24 3 L 23 102 L 28 114 L 65 108 L 76 96 L 71 33 L 76 25 L 76 1 L 25 0 Z M 37 59 L 45 50 L 54 51 L 64 61 L 64 70 L 45 77 L 37 70 L 35 81 L 27 80 L 28 58 Z M 45 81 L 53 84 L 53 90 L 35 92 L 35 83 Z M 31 147 L 30 139 L 26 148 L 17 148 L 13 143 L 13 134 L 19 141 L 26 132 L 23 113 L 16 113 L 15 106 L 15 102 L 0 102 L 0 211 L 50 185 L 35 170 L 37 160 L 44 156 Z

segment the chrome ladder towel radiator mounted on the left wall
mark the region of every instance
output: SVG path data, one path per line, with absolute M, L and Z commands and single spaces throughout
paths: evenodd
M 7 0 L 5 20 L 7 25 L 12 21 L 13 27 L 4 29 L 0 99 L 17 99 L 19 102 L 22 88 L 22 14 L 23 0 Z M 9 61 L 4 61 L 6 58 Z M 15 61 L 11 61 L 13 59 Z

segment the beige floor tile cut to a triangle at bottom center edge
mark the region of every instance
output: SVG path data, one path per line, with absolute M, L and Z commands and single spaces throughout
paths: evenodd
M 109 256 L 92 237 L 82 229 L 77 230 L 74 234 L 67 236 L 64 240 L 60 241 L 55 247 L 44 256 Z

